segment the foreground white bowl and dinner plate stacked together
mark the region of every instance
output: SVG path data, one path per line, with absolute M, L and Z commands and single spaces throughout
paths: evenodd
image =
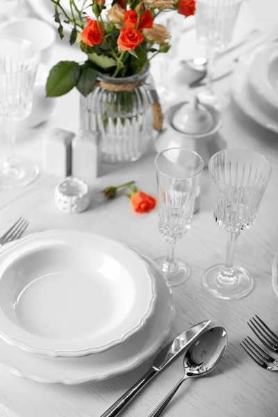
M 0 368 L 81 384 L 136 368 L 170 331 L 174 300 L 156 265 L 115 240 L 33 234 L 0 252 Z

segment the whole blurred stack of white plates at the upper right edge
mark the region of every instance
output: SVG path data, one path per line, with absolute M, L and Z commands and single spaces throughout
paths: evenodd
M 278 42 L 261 48 L 248 65 L 233 76 L 234 99 L 261 126 L 278 133 Z

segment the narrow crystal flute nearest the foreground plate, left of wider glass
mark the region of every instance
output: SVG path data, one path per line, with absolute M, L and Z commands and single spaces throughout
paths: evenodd
M 174 258 L 174 247 L 190 229 L 197 187 L 204 161 L 196 152 L 170 148 L 156 156 L 159 231 L 169 243 L 168 254 L 156 259 L 171 286 L 182 284 L 190 269 Z

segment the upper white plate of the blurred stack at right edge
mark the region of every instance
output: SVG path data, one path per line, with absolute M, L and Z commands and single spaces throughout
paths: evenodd
M 250 67 L 250 84 L 261 99 L 275 108 L 278 117 L 278 42 L 256 54 Z

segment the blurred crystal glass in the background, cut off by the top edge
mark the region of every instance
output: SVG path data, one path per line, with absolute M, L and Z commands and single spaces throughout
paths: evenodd
M 206 47 L 206 86 L 199 99 L 207 104 L 217 104 L 213 91 L 215 58 L 231 42 L 238 12 L 243 0 L 196 0 L 197 41 Z

